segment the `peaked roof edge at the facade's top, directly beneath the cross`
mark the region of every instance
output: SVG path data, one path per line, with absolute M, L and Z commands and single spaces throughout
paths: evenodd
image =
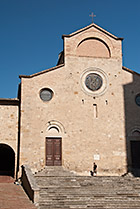
M 85 30 L 87 30 L 87 29 L 89 29 L 89 28 L 91 28 L 91 27 L 94 27 L 94 28 L 96 28 L 96 29 L 102 31 L 103 33 L 105 33 L 106 35 L 108 35 L 108 36 L 114 38 L 115 40 L 123 40 L 123 38 L 119 38 L 119 37 L 117 37 L 117 36 L 114 36 L 113 34 L 109 33 L 108 31 L 106 31 L 105 29 L 103 29 L 103 28 L 101 28 L 100 26 L 96 25 L 95 23 L 92 23 L 92 24 L 90 24 L 90 25 L 88 25 L 88 26 L 86 26 L 86 27 L 84 27 L 84 28 L 82 28 L 82 29 L 79 29 L 79 30 L 77 30 L 77 31 L 75 31 L 75 32 L 73 32 L 73 33 L 71 33 L 71 34 L 69 34 L 69 35 L 62 35 L 62 38 L 63 38 L 63 39 L 64 39 L 64 37 L 70 38 L 70 37 L 72 37 L 72 36 L 74 36 L 74 35 L 77 35 L 78 33 L 81 33 L 81 32 L 83 32 L 83 31 L 85 31 Z

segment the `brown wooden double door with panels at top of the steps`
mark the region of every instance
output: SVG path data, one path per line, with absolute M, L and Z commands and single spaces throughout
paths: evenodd
M 61 138 L 46 138 L 46 165 L 61 166 Z

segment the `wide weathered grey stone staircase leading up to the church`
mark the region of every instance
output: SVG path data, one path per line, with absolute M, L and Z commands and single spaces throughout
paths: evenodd
M 139 178 L 77 176 L 63 167 L 46 167 L 34 176 L 39 209 L 140 209 Z

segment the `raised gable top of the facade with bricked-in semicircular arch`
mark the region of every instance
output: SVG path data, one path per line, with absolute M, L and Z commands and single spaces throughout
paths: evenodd
M 96 24 L 70 35 L 63 35 L 64 54 L 93 58 L 122 58 L 122 38 L 118 38 Z

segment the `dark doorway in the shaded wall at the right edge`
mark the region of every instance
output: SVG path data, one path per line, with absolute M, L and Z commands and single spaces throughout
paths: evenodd
M 131 141 L 132 168 L 140 169 L 140 141 Z

